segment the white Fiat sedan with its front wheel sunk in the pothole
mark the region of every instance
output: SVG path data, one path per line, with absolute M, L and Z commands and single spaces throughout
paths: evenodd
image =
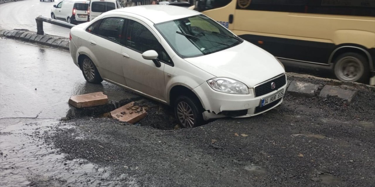
M 249 117 L 282 102 L 283 65 L 199 12 L 147 5 L 71 29 L 70 52 L 90 83 L 103 80 L 171 105 L 186 128 Z

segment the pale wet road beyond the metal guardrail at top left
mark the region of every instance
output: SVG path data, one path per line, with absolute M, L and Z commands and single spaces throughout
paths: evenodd
M 57 4 L 54 2 L 39 0 L 24 0 L 0 5 L 0 28 L 1 29 L 27 29 L 36 31 L 35 18 L 37 16 L 51 17 L 51 8 Z M 69 37 L 70 29 L 43 23 L 45 34 L 51 34 L 61 37 Z

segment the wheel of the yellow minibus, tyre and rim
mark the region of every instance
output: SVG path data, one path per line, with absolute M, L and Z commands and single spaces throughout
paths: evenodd
M 368 59 L 359 53 L 343 53 L 335 58 L 334 73 L 337 79 L 344 82 L 369 81 L 370 69 Z

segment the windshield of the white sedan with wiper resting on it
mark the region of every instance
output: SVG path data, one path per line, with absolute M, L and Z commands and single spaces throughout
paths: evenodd
M 181 58 L 207 55 L 243 41 L 204 15 L 163 22 L 155 27 Z

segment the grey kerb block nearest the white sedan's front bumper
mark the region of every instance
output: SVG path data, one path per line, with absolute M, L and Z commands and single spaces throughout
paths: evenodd
M 318 85 L 312 83 L 292 81 L 287 91 L 294 96 L 314 97 L 318 91 Z

